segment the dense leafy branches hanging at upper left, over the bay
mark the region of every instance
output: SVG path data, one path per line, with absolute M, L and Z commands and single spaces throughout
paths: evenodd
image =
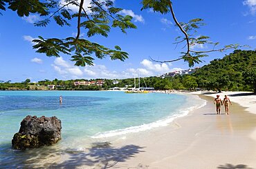
M 36 52 L 45 53 L 47 57 L 68 54 L 75 66 L 92 66 L 95 57 L 102 59 L 109 56 L 112 60 L 120 61 L 128 58 L 128 53 L 119 46 L 110 49 L 80 36 L 84 31 L 87 37 L 97 34 L 108 37 L 111 27 L 120 28 L 124 33 L 129 28 L 136 28 L 131 22 L 131 16 L 118 14 L 122 9 L 113 7 L 113 1 L 92 0 L 87 9 L 84 7 L 84 0 L 65 0 L 64 4 L 57 0 L 0 0 L 0 10 L 6 10 L 6 6 L 16 11 L 19 17 L 39 14 L 44 19 L 35 23 L 35 26 L 44 27 L 51 21 L 55 21 L 58 26 L 71 26 L 73 20 L 77 20 L 76 37 L 44 39 L 39 36 L 39 39 L 33 40 Z M 70 6 L 77 6 L 78 11 L 70 10 Z

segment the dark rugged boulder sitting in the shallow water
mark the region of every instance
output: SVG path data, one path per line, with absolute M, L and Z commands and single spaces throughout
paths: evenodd
M 62 121 L 57 117 L 27 116 L 12 139 L 12 148 L 25 150 L 57 143 L 61 138 Z

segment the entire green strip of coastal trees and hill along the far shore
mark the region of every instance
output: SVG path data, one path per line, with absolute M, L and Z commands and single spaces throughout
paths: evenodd
M 144 77 L 140 87 L 151 87 L 155 90 L 232 90 L 256 92 L 256 51 L 234 50 L 223 59 L 214 59 L 192 74 L 174 77 Z M 97 85 L 97 81 L 104 83 Z M 91 85 L 75 85 L 75 81 L 87 81 Z M 118 83 L 113 83 L 116 81 Z M 136 79 L 138 81 L 138 78 Z M 145 83 L 144 83 L 145 81 Z M 110 88 L 134 88 L 134 78 L 130 79 L 73 79 L 50 81 L 45 79 L 30 83 L 26 79 L 21 83 L 2 81 L 0 90 L 109 90 Z M 138 84 L 136 86 L 138 88 Z

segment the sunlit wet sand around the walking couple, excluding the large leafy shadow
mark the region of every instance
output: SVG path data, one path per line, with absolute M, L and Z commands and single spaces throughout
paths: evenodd
M 235 101 L 230 115 L 223 115 L 223 108 L 222 115 L 216 115 L 212 97 L 201 98 L 208 101 L 206 106 L 174 120 L 172 125 L 113 142 L 117 146 L 132 143 L 145 151 L 116 167 L 136 168 L 140 164 L 148 168 L 235 168 L 241 164 L 256 168 L 256 143 L 252 137 L 256 133 L 256 115 Z

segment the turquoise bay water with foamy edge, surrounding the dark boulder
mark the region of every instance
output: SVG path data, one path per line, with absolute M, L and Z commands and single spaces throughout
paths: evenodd
M 1 91 L 0 168 L 24 167 L 51 153 L 82 151 L 93 142 L 167 126 L 176 117 L 203 105 L 205 101 L 197 96 L 161 93 Z M 12 150 L 12 137 L 27 115 L 56 116 L 62 121 L 62 140 L 37 150 Z

